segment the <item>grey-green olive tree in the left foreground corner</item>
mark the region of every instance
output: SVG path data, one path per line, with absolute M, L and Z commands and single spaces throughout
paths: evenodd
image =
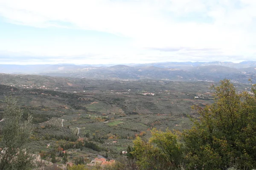
M 23 110 L 12 98 L 6 98 L 4 110 L 4 126 L 2 127 L 0 147 L 0 170 L 27 170 L 33 167 L 33 157 L 26 152 L 24 144 L 32 134 L 32 116 L 25 122 Z

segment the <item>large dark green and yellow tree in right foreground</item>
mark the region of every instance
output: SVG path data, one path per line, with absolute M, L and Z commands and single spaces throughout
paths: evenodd
M 200 120 L 193 120 L 194 126 L 183 133 L 188 167 L 227 169 L 239 159 L 239 169 L 255 168 L 256 97 L 237 94 L 227 79 L 213 88 L 215 102 L 195 106 Z

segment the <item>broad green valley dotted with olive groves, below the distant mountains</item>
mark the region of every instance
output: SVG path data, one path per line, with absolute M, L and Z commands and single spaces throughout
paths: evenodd
M 73 163 L 81 158 L 90 163 L 98 156 L 118 160 L 136 136 L 148 139 L 154 127 L 189 128 L 190 117 L 198 116 L 191 106 L 212 103 L 213 84 L 218 83 L 0 74 L 0 119 L 5 96 L 12 96 L 24 119 L 33 116 L 34 132 L 26 148 L 41 159 L 50 162 L 55 153 L 62 164 L 64 150 Z M 250 90 L 250 85 L 234 85 Z

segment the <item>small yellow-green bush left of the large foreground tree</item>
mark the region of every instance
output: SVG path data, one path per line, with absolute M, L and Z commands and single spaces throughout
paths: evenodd
M 175 169 L 183 161 L 182 144 L 171 130 L 165 132 L 153 128 L 149 142 L 140 137 L 134 140 L 134 148 L 128 147 L 128 159 L 135 158 L 139 169 Z

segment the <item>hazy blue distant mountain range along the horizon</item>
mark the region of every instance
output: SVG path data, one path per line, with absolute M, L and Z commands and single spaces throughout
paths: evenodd
M 219 81 L 256 83 L 256 61 L 163 62 L 128 65 L 0 65 L 0 73 L 38 74 L 93 79 L 168 79 L 172 81 Z

